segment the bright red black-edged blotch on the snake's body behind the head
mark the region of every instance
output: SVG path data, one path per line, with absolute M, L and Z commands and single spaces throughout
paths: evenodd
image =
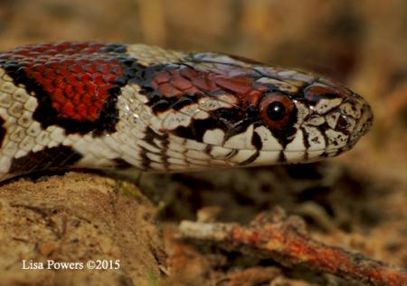
M 102 43 L 41 44 L 5 52 L 51 98 L 60 119 L 99 119 L 108 90 L 124 70 Z M 95 55 L 96 54 L 96 55 Z

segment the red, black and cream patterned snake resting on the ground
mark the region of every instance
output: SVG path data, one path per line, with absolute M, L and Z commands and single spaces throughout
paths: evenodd
M 350 150 L 372 122 L 333 79 L 228 54 L 105 42 L 0 52 L 0 180 L 313 162 Z

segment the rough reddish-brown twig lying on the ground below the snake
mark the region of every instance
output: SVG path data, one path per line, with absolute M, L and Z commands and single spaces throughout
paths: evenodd
M 374 286 L 407 285 L 407 271 L 371 260 L 309 237 L 302 220 L 286 217 L 282 209 L 261 213 L 250 226 L 184 221 L 183 239 L 217 244 L 224 249 L 271 258 L 287 267 L 328 272 L 346 280 Z

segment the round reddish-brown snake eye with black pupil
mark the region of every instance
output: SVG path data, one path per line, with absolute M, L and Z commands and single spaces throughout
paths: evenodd
M 266 94 L 260 101 L 261 121 L 272 129 L 284 128 L 289 124 L 294 104 L 281 93 Z

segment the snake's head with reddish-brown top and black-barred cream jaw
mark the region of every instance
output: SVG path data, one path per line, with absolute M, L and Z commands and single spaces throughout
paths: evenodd
M 362 97 L 327 78 L 222 54 L 142 75 L 137 113 L 165 152 L 146 164 L 155 171 L 318 161 L 351 149 L 373 121 Z

